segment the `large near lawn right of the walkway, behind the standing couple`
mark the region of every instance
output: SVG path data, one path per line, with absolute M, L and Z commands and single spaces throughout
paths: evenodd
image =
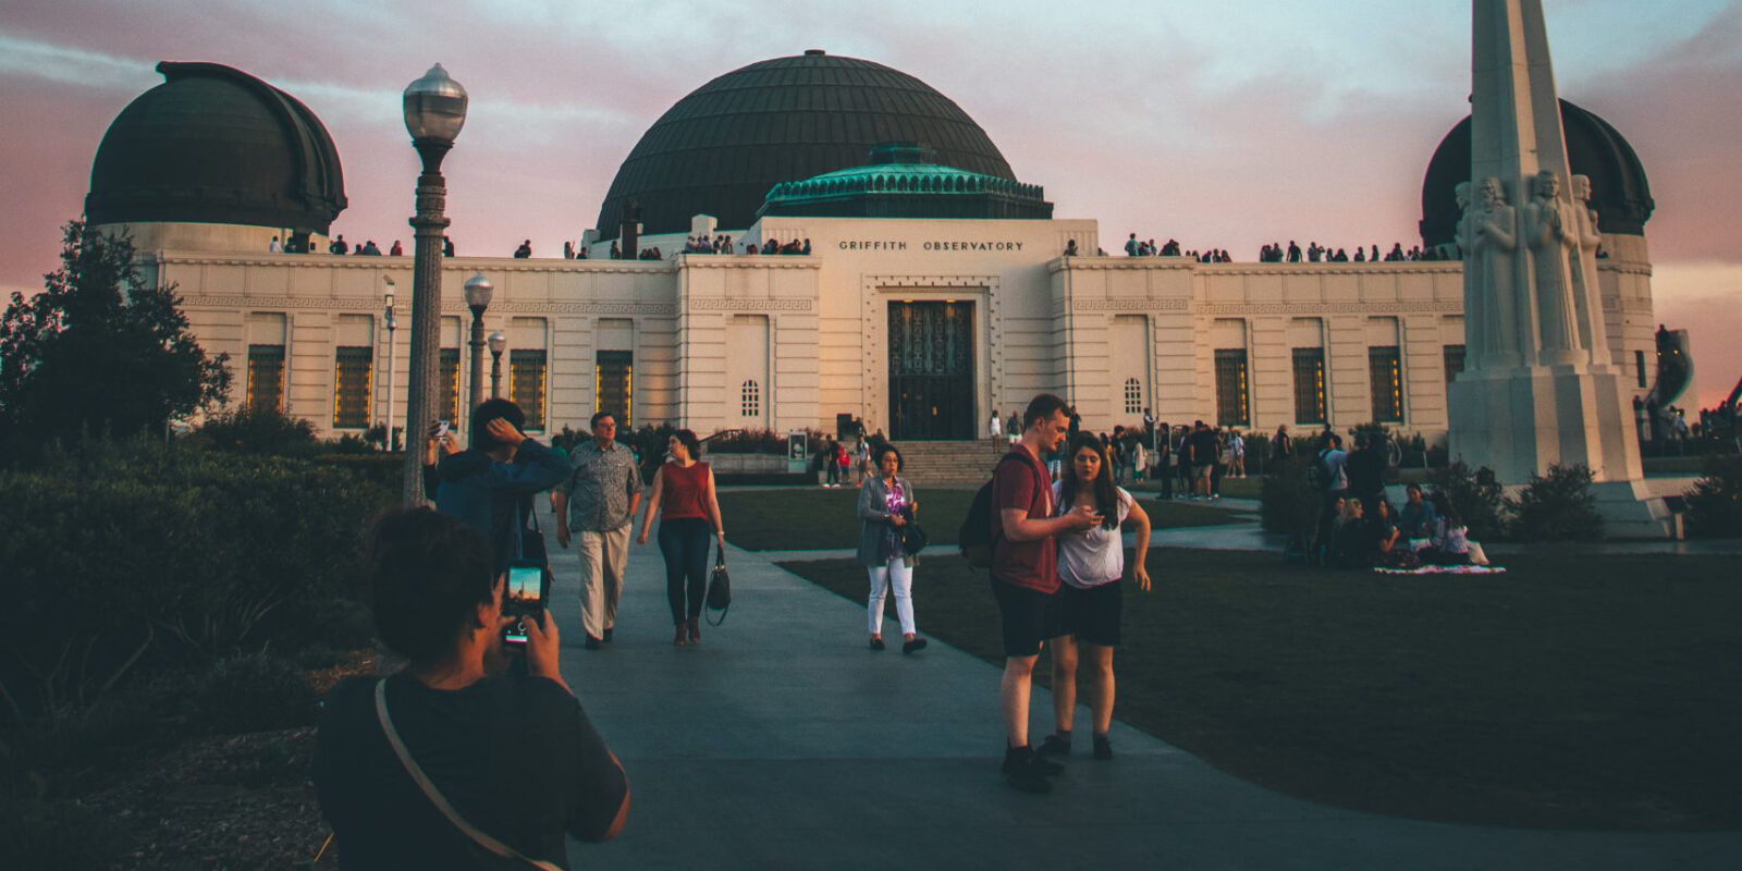
M 1242 779 L 1376 814 L 1742 827 L 1735 563 L 1509 561 L 1395 580 L 1151 550 L 1155 592 L 1125 598 L 1117 716 Z M 784 566 L 864 598 L 850 561 Z M 984 573 L 932 559 L 915 580 L 922 632 L 1002 662 Z

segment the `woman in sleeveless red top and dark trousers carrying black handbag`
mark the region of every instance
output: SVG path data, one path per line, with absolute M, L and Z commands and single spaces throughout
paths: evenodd
M 641 535 L 636 544 L 648 544 L 648 528 L 658 514 L 658 550 L 665 557 L 665 601 L 671 603 L 671 622 L 678 627 L 671 643 L 700 645 L 702 599 L 707 596 L 707 538 L 712 533 L 725 550 L 726 526 L 719 521 L 714 472 L 707 463 L 695 460 L 702 453 L 695 434 L 678 430 L 665 446 L 671 458 L 653 476 L 653 498 L 648 500 L 648 512 L 641 517 Z

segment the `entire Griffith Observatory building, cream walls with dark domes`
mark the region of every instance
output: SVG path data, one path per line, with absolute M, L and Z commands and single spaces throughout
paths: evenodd
M 411 258 L 268 251 L 273 237 L 327 249 L 347 199 L 326 127 L 240 70 L 159 71 L 165 82 L 103 138 L 87 221 L 129 232 L 146 279 L 178 286 L 200 345 L 230 355 L 233 404 L 327 436 L 402 415 L 411 331 L 390 350 L 381 294 L 392 280 L 409 298 Z M 1644 169 L 1603 118 L 1564 101 L 1561 113 L 1603 232 L 1608 348 L 1643 395 L 1655 366 Z M 1423 249 L 1455 246 L 1453 188 L 1469 169 L 1465 118 L 1427 160 Z M 897 441 L 951 441 L 1056 392 L 1096 430 L 1150 408 L 1164 422 L 1380 422 L 1444 441 L 1463 368 L 1462 263 L 1097 256 L 1097 223 L 1056 218 L 1035 181 L 908 73 L 819 51 L 733 70 L 624 159 L 587 260 L 442 261 L 441 415 L 465 425 L 463 284 L 483 273 L 484 331 L 507 338 L 500 392 L 533 432 L 603 409 L 702 436 L 833 430 L 850 415 Z M 810 254 L 679 253 L 718 233 L 737 251 L 808 240 Z M 611 260 L 624 242 L 665 258 Z

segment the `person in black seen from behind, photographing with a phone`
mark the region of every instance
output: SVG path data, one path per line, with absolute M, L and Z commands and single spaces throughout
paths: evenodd
M 409 665 L 326 697 L 312 772 L 341 868 L 568 868 L 566 836 L 615 838 L 629 779 L 563 679 L 549 608 L 503 613 L 490 542 L 399 510 L 368 575 L 376 632 Z M 523 676 L 503 674 L 514 627 Z

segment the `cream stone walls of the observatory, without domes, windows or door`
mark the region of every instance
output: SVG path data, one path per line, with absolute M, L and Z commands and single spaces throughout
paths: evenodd
M 441 336 L 460 352 L 460 404 L 470 368 L 463 282 L 481 272 L 496 287 L 484 329 L 510 345 L 505 395 L 512 352 L 544 352 L 547 432 L 585 427 L 598 406 L 599 352 L 627 352 L 632 425 L 784 432 L 831 429 L 845 413 L 899 437 L 887 331 L 890 305 L 908 301 L 972 307 L 981 436 L 993 409 L 1009 416 L 1043 390 L 1073 401 L 1097 430 L 1136 423 L 1143 408 L 1169 423 L 1216 422 L 1218 352 L 1242 350 L 1247 415 L 1239 429 L 1315 430 L 1320 423 L 1296 413 L 1296 348 L 1320 348 L 1327 423 L 1347 429 L 1374 418 L 1374 347 L 1397 348 L 1394 427 L 1430 441 L 1448 429 L 1446 347 L 1463 345 L 1460 263 L 1063 258 L 1070 240 L 1096 249 L 1089 219 L 770 218 L 733 237 L 810 239 L 814 253 L 448 260 Z M 211 239 L 164 225 L 141 251 L 148 273 L 178 286 L 206 350 L 230 354 L 235 401 L 247 388 L 249 345 L 282 345 L 284 413 L 327 436 L 350 432 L 334 418 L 334 354 L 362 343 L 375 348 L 368 420 L 385 420 L 381 293 L 392 279 L 394 409 L 404 416 L 411 258 L 213 251 Z M 1606 237 L 1606 249 L 1615 254 L 1599 265 L 1610 348 L 1643 394 L 1637 366 L 1655 362 L 1644 239 Z M 488 352 L 484 368 L 488 394 Z

